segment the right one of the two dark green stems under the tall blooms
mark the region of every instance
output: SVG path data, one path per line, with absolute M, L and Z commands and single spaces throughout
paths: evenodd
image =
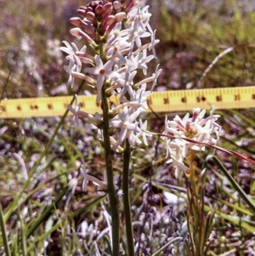
M 123 207 L 124 216 L 126 223 L 127 232 L 127 255 L 134 256 L 134 245 L 133 245 L 133 227 L 132 218 L 130 210 L 130 200 L 129 200 L 129 163 L 130 163 L 130 144 L 128 139 L 126 139 L 126 145 L 123 155 L 123 170 L 122 170 L 122 191 L 123 191 Z

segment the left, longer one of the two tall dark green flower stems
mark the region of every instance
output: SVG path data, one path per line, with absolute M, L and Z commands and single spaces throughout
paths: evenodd
M 105 95 L 106 86 L 104 84 L 102 95 L 102 110 L 103 110 L 103 136 L 105 145 L 105 167 L 108 185 L 108 194 L 111 207 L 111 223 L 112 223 L 112 256 L 119 256 L 119 211 L 118 211 L 118 198 L 114 187 L 113 168 L 112 168 L 112 154 L 111 154 L 111 141 L 108 134 L 109 129 L 109 105 L 108 99 Z

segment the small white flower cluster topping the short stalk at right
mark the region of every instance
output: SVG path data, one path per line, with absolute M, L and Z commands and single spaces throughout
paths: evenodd
M 167 138 L 167 162 L 172 162 L 175 168 L 175 175 L 178 176 L 180 170 L 187 171 L 184 159 L 189 151 L 204 151 L 205 145 L 216 145 L 219 138 L 220 126 L 215 122 L 219 115 L 213 115 L 215 107 L 212 106 L 210 116 L 204 118 L 206 111 L 200 108 L 193 109 L 193 117 L 187 113 L 183 119 L 176 116 L 173 121 L 165 120 L 165 131 L 163 134 L 174 136 Z M 194 141 L 194 142 L 192 142 Z

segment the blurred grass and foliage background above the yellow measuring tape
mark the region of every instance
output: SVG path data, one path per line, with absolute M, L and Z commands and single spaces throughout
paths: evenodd
M 150 3 L 150 1 L 148 2 Z M 70 18 L 84 1 L 1 1 L 0 88 L 2 97 L 66 94 L 61 41 L 71 37 Z M 167 89 L 249 86 L 254 80 L 252 1 L 151 1 L 151 26 Z M 80 42 L 82 43 L 82 42 Z M 79 44 L 79 43 L 78 43 Z M 199 84 L 207 66 L 218 60 Z M 154 67 L 151 67 L 154 70 Z M 58 90 L 59 88 L 59 90 Z

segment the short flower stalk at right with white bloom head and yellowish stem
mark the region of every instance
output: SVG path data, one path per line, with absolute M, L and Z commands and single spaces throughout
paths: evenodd
M 163 139 L 167 138 L 167 162 L 173 163 L 175 176 L 184 171 L 189 181 L 187 197 L 189 207 L 187 222 L 190 231 L 190 244 L 186 242 L 189 255 L 202 256 L 207 251 L 206 242 L 212 228 L 212 215 L 207 218 L 204 213 L 203 175 L 196 172 L 195 156 L 205 150 L 205 145 L 215 146 L 218 143 L 220 126 L 216 123 L 218 115 L 214 115 L 212 106 L 210 116 L 204 118 L 206 111 L 193 109 L 193 116 L 187 114 L 183 119 L 176 116 L 173 121 L 166 117 Z M 166 136 L 166 137 L 164 137 Z M 185 160 L 185 161 L 184 161 Z

